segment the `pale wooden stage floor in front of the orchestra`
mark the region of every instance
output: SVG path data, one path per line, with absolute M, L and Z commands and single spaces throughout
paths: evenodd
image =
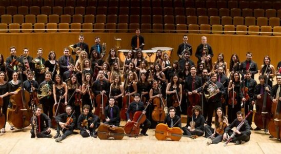
M 121 122 L 124 125 L 125 122 Z M 185 126 L 185 124 L 183 124 Z M 252 125 L 255 128 L 254 125 Z M 61 143 L 54 139 L 31 139 L 30 129 L 11 131 L 6 125 L 6 133 L 0 133 L 0 153 L 281 153 L 281 142 L 269 139 L 263 130 L 252 131 L 249 142 L 242 145 L 223 143 L 207 146 L 209 139 L 182 138 L 180 141 L 157 141 L 154 129 L 148 130 L 148 137 L 129 138 L 123 140 L 99 140 L 98 138 L 82 138 L 80 134 L 72 134 Z M 77 131 L 77 130 L 75 130 Z M 54 136 L 56 131 L 52 129 Z

